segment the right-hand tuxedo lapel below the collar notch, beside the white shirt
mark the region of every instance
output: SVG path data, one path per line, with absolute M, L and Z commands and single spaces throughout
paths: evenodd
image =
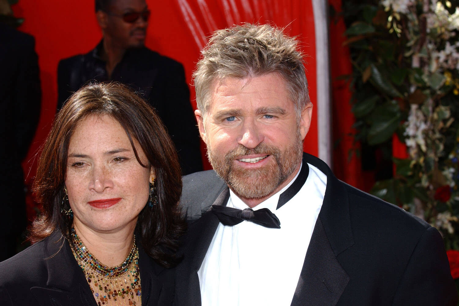
M 334 306 L 349 281 L 320 220 L 314 227 L 291 306 Z

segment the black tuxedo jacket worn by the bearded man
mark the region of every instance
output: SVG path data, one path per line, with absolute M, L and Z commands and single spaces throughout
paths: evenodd
M 327 187 L 292 306 L 456 305 L 457 291 L 437 229 L 339 181 L 318 158 L 304 154 L 304 162 L 327 175 Z M 226 205 L 229 189 L 213 171 L 183 181 L 181 204 L 192 223 L 184 260 L 176 269 L 174 301 L 178 306 L 201 305 L 197 270 L 218 226 L 209 207 Z M 302 243 L 301 233 L 297 237 Z

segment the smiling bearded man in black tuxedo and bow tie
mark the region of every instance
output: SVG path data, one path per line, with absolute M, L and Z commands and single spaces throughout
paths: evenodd
M 217 31 L 194 82 L 214 170 L 183 179 L 177 305 L 456 305 L 435 228 L 302 153 L 312 104 L 295 39 Z

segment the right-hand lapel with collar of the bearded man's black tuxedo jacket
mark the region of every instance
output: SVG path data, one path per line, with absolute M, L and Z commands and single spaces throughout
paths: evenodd
M 334 306 L 349 281 L 336 257 L 354 244 L 347 190 L 325 162 L 306 153 L 303 162 L 327 175 L 327 187 L 291 306 Z

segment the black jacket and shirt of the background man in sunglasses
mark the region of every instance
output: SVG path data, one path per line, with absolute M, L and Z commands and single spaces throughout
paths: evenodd
M 199 131 L 190 104 L 182 64 L 146 47 L 129 49 L 109 78 L 101 58 L 102 41 L 84 55 L 59 62 L 57 68 L 58 103 L 64 102 L 90 81 L 117 81 L 129 85 L 155 108 L 179 153 L 183 174 L 202 170 Z

